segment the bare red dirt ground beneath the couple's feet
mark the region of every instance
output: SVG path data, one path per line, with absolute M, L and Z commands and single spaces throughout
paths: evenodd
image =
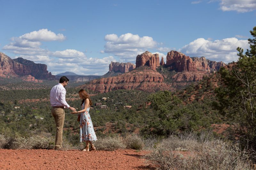
M 1 169 L 149 169 L 146 151 L 55 151 L 0 149 Z

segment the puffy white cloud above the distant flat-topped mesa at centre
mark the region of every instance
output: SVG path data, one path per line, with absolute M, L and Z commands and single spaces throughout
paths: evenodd
M 104 53 L 112 53 L 119 56 L 121 59 L 135 60 L 135 56 L 141 51 L 146 51 L 149 48 L 155 48 L 157 43 L 152 37 L 133 35 L 132 33 L 122 34 L 119 37 L 116 34 L 108 34 L 105 36 L 105 41 L 108 41 L 104 48 Z

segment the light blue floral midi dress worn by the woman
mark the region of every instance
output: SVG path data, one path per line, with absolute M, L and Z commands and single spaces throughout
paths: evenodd
M 84 109 L 84 103 L 82 105 L 82 110 Z M 81 113 L 80 118 L 80 142 L 84 141 L 96 141 L 97 137 L 93 129 L 91 116 L 89 114 L 90 107 L 86 109 L 85 112 Z

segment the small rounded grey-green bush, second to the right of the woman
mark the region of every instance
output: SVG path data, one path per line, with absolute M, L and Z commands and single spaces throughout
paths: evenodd
M 126 145 L 126 148 L 136 150 L 142 149 L 145 145 L 143 139 L 136 134 L 127 135 L 124 138 L 124 144 Z

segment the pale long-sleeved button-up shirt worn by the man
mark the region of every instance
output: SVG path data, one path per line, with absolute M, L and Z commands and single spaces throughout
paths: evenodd
M 66 89 L 62 84 L 55 85 L 52 87 L 50 93 L 51 106 L 64 106 L 69 108 L 70 106 L 66 102 Z

